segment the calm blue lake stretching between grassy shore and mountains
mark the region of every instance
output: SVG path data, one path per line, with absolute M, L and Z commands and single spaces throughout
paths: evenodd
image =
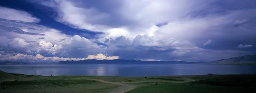
M 0 70 L 26 75 L 112 75 L 170 76 L 213 74 L 256 74 L 255 65 L 208 64 L 73 64 L 73 65 L 0 65 Z

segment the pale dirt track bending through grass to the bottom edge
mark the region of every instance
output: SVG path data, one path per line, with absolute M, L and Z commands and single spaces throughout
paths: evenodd
M 102 83 L 121 85 L 121 87 L 118 87 L 116 89 L 108 91 L 107 93 L 124 93 L 124 92 L 130 91 L 132 89 L 135 89 L 137 87 L 136 85 L 128 85 L 128 84 L 118 83 L 118 82 L 109 82 L 109 81 L 104 81 L 101 79 L 87 79 L 87 80 L 95 80 L 95 81 L 100 81 Z

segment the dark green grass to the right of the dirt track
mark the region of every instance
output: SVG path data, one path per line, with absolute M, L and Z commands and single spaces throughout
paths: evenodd
M 195 81 L 159 83 L 137 87 L 126 93 L 252 93 L 256 91 L 256 75 L 181 76 Z

